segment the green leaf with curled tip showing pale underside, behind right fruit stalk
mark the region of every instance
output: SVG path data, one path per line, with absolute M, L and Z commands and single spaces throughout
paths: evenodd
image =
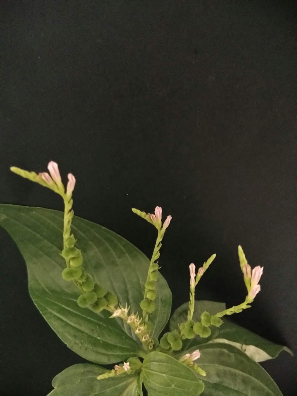
M 200 321 L 200 315 L 204 311 L 208 311 L 213 315 L 225 310 L 225 308 L 226 305 L 224 303 L 217 303 L 214 301 L 195 301 L 193 320 Z M 187 312 L 188 303 L 181 305 L 177 310 L 175 310 L 170 319 L 170 330 L 176 329 L 179 323 L 187 320 Z M 211 327 L 211 335 L 208 338 L 201 339 L 197 336 L 191 340 L 185 340 L 183 342 L 183 351 L 191 348 L 192 346 L 199 346 L 208 342 L 219 342 L 236 346 L 256 362 L 263 362 L 264 360 L 275 358 L 282 350 L 293 355 L 291 350 L 286 346 L 267 341 L 252 331 L 229 322 L 226 318 L 223 318 L 223 320 L 224 323 L 219 329 L 213 326 Z

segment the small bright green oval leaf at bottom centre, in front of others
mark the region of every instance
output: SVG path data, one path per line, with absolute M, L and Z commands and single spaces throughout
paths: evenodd
M 204 384 L 189 367 L 162 352 L 151 352 L 143 361 L 143 383 L 150 395 L 200 395 Z

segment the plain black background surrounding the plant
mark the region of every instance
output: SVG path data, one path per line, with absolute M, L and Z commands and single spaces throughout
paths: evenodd
M 55 160 L 76 176 L 76 215 L 147 255 L 154 229 L 131 208 L 162 206 L 173 309 L 188 299 L 188 265 L 214 252 L 198 298 L 242 302 L 241 244 L 265 269 L 234 320 L 296 354 L 295 12 L 265 0 L 3 2 L 1 202 L 62 209 L 9 171 Z M 46 395 L 84 360 L 34 307 L 25 263 L 0 236 L 2 394 Z M 263 367 L 295 396 L 295 358 Z

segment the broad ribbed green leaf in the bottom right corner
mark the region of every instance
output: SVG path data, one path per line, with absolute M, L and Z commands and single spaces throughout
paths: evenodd
M 206 371 L 206 377 L 197 374 L 205 384 L 203 395 L 282 396 L 268 373 L 238 348 L 209 343 L 200 345 L 199 350 L 201 356 L 196 364 Z

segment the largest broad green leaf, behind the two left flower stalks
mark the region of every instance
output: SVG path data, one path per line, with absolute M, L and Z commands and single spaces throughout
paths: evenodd
M 61 277 L 65 268 L 60 256 L 62 212 L 1 204 L 0 225 L 25 258 L 32 300 L 70 349 L 99 364 L 143 354 L 139 340 L 122 320 L 110 319 L 107 311 L 95 314 L 76 304 L 78 289 Z M 86 270 L 114 291 L 122 305 L 128 303 L 131 310 L 140 311 L 149 266 L 147 257 L 114 232 L 79 217 L 74 217 L 72 230 Z M 157 289 L 156 311 L 151 316 L 154 337 L 166 325 L 171 310 L 171 292 L 162 276 Z

